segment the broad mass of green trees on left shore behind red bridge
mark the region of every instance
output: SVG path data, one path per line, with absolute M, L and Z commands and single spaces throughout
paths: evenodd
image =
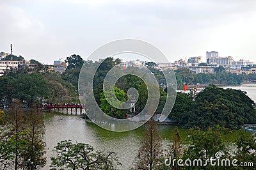
M 60 73 L 49 72 L 44 66 L 8 70 L 0 77 L 0 84 L 1 105 L 10 104 L 12 98 L 31 104 L 44 98 L 55 102 L 58 98 L 77 95 L 75 87 L 61 79 Z

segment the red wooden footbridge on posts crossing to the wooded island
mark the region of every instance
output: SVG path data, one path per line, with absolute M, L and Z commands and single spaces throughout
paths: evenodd
M 44 109 L 47 110 L 53 110 L 53 111 L 62 111 L 64 112 L 66 110 L 66 112 L 68 113 L 68 109 L 71 110 L 71 114 L 73 114 L 73 111 L 76 112 L 77 114 L 77 110 L 80 111 L 80 114 L 82 114 L 83 111 L 83 105 L 82 104 L 43 104 Z

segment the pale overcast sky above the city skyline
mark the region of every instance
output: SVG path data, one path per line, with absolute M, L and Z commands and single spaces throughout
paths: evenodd
M 216 50 L 256 62 L 256 1 L 1 0 L 0 52 L 52 64 L 113 40 L 152 43 L 170 62 Z

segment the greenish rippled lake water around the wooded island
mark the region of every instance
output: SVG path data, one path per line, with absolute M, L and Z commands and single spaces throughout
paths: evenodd
M 241 86 L 224 86 L 222 88 L 241 89 L 256 101 L 256 84 L 242 84 Z M 158 125 L 163 138 L 164 146 L 172 139 L 173 126 Z M 49 169 L 50 157 L 53 155 L 54 146 L 62 140 L 72 140 L 77 143 L 89 143 L 94 148 L 105 151 L 114 151 L 122 163 L 122 169 L 129 169 L 138 153 L 140 140 L 143 137 L 144 127 L 130 132 L 110 132 L 94 123 L 84 121 L 79 116 L 66 114 L 45 113 L 45 138 L 47 147 L 47 165 L 43 169 Z M 180 128 L 182 138 L 187 136 L 187 130 Z M 236 136 L 229 135 L 229 138 Z

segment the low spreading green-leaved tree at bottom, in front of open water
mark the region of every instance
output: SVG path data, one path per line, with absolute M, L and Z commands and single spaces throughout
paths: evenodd
M 51 157 L 52 167 L 71 169 L 116 169 L 120 165 L 115 153 L 96 150 L 85 143 L 60 141 L 55 148 L 55 157 Z

